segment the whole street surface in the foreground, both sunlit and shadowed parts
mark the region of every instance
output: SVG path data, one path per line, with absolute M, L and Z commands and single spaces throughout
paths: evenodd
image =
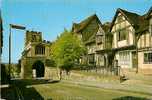
M 29 79 L 12 82 L 17 91 L 15 100 L 18 98 L 20 100 L 150 100 L 151 98 L 151 94 L 104 89 L 66 80 Z

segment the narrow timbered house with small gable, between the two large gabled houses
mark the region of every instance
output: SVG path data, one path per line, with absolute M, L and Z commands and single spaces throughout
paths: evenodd
M 96 66 L 110 67 L 112 64 L 112 34 L 109 33 L 110 23 L 100 25 L 96 34 Z

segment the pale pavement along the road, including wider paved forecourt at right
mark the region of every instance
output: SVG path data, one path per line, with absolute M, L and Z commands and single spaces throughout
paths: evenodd
M 105 89 L 114 89 L 120 91 L 129 91 L 141 94 L 148 94 L 152 96 L 152 76 L 145 76 L 142 74 L 130 74 L 128 80 L 122 83 L 118 82 L 100 82 L 100 81 L 89 81 L 89 80 L 64 80 L 78 85 L 99 87 Z

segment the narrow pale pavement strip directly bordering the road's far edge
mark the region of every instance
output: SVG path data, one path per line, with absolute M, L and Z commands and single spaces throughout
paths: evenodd
M 147 94 L 147 95 L 152 96 L 151 85 L 110 84 L 110 83 L 99 83 L 99 82 L 97 83 L 97 82 L 88 82 L 88 81 L 69 81 L 69 80 L 64 80 L 63 82 L 69 82 L 69 83 L 74 83 L 77 85 L 83 85 L 83 86 L 89 86 L 89 87 L 141 93 L 141 94 Z

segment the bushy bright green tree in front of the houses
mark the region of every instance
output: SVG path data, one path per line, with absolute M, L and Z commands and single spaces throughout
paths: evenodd
M 65 70 L 68 75 L 76 60 L 85 53 L 86 48 L 74 33 L 64 30 L 52 44 L 51 50 L 52 58 L 60 69 L 61 80 L 62 70 Z

